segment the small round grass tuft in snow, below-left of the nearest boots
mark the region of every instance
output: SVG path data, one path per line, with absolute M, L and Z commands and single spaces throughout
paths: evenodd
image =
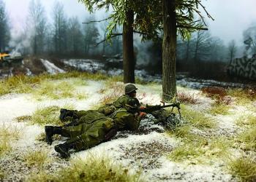
M 25 155 L 23 155 L 23 161 L 29 167 L 42 168 L 47 162 L 50 161 L 48 157 L 48 151 L 45 149 L 34 150 L 30 149 Z

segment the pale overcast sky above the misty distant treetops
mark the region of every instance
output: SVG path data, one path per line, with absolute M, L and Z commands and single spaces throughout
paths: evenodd
M 20 27 L 26 19 L 30 0 L 4 0 L 7 11 L 14 22 L 14 27 Z M 83 19 L 89 13 L 78 0 L 60 0 L 64 4 L 68 17 L 78 16 Z M 48 17 L 52 15 L 54 0 L 42 0 Z M 256 22 L 256 0 L 203 0 L 207 11 L 214 21 L 207 19 L 212 36 L 219 36 L 225 43 L 235 39 L 242 44 L 244 29 Z

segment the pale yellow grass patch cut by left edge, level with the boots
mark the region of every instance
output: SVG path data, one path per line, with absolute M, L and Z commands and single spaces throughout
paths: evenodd
M 0 124 L 0 157 L 12 151 L 12 141 L 18 140 L 21 129 L 13 125 Z

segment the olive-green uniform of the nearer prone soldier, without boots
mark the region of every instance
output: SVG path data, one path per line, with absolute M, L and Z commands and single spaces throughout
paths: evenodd
M 94 116 L 100 116 L 94 118 Z M 67 143 L 75 143 L 75 150 L 80 151 L 89 149 L 106 140 L 108 132 L 115 128 L 116 130 L 137 130 L 140 125 L 140 117 L 127 112 L 125 108 L 120 108 L 113 113 L 111 117 L 97 111 L 91 111 L 86 116 L 83 123 L 77 126 L 62 128 L 62 134 L 70 139 Z

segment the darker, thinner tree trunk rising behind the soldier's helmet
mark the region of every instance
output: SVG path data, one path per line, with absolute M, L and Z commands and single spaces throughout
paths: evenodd
M 124 83 L 135 83 L 135 60 L 133 53 L 133 11 L 126 12 L 126 23 L 123 25 L 123 66 Z

